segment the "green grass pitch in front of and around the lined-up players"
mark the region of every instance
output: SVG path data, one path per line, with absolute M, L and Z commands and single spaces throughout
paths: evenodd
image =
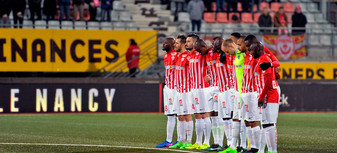
M 113 147 L 154 148 L 166 138 L 166 119 L 163 114 L 0 115 L 0 152 L 175 152 Z M 336 125 L 337 113 L 279 114 L 278 152 L 337 152 Z

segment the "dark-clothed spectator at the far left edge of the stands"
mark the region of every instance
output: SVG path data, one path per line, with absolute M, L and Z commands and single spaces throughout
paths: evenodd
M 0 27 L 10 27 L 9 13 L 11 12 L 11 0 L 0 0 Z

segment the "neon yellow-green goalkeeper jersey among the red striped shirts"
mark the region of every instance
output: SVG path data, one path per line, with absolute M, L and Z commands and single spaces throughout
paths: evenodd
M 242 88 L 242 78 L 243 78 L 243 64 L 245 62 L 245 52 L 241 52 L 239 50 L 235 53 L 234 66 L 235 66 L 235 74 L 238 83 L 239 94 L 241 95 Z

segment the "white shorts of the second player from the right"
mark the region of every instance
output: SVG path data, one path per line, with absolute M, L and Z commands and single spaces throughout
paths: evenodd
M 262 112 L 258 107 L 257 92 L 242 93 L 243 119 L 249 122 L 260 121 Z

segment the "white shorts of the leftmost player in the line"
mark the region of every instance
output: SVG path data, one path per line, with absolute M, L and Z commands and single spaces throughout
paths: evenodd
M 168 87 L 164 87 L 164 113 L 165 115 L 176 114 L 173 111 L 173 102 L 175 97 L 177 96 L 177 91 L 175 89 L 170 89 Z

